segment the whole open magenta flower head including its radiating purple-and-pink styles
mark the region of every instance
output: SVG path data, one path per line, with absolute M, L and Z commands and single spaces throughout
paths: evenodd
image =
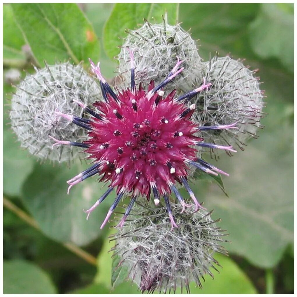
M 178 227 L 170 209 L 169 197 L 172 193 L 182 206 L 182 211 L 188 207 L 177 189 L 181 184 L 195 203 L 195 210 L 200 204 L 188 184 L 188 170 L 194 166 L 206 173 L 217 175 L 224 173 L 215 166 L 198 157 L 198 147 L 232 150 L 231 146 L 219 146 L 204 143 L 199 132 L 204 130 L 236 129 L 235 124 L 223 126 L 199 126 L 191 121 L 195 105 L 188 107 L 187 103 L 198 92 L 207 89 L 211 84 L 204 81 L 202 86 L 188 93 L 175 97 L 175 91 L 165 94 L 162 89 L 183 71 L 182 61 L 177 61 L 164 81 L 157 86 L 154 81 L 147 89 L 135 86 L 135 65 L 133 53 L 130 51 L 131 85 L 115 93 L 103 78 L 99 63 L 91 60 L 91 68 L 100 82 L 105 101 L 95 102 L 94 110 L 79 101 L 75 101 L 91 118 L 84 119 L 57 111 L 74 124 L 88 130 L 89 139 L 83 143 L 55 140 L 57 144 L 78 146 L 85 149 L 93 165 L 67 181 L 69 189 L 91 176 L 99 175 L 100 181 L 108 182 L 109 188 L 86 211 L 90 213 L 105 200 L 113 191 L 116 198 L 113 201 L 101 228 L 106 224 L 120 200 L 131 196 L 130 203 L 119 222 L 124 224 L 129 211 L 138 197 L 150 199 L 152 194 L 157 205 L 164 199 L 172 228 Z M 68 192 L 69 192 L 68 189 Z

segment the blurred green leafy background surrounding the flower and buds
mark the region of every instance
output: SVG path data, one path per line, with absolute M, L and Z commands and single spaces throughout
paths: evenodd
M 8 119 L 10 83 L 17 83 L 9 71 L 68 59 L 64 36 L 74 63 L 91 56 L 111 79 L 124 29 L 143 18 L 160 21 L 165 11 L 169 21 L 192 28 L 204 60 L 217 51 L 258 68 L 267 96 L 260 138 L 217 162 L 230 173 L 229 197 L 215 184 L 195 185 L 231 243 L 230 257 L 218 256 L 221 273 L 206 279 L 203 290 L 191 285 L 191 292 L 293 293 L 293 4 L 4 4 L 4 293 L 137 293 L 121 274 L 111 282 L 110 231 L 99 230 L 108 203 L 86 221 L 83 208 L 101 186 L 84 181 L 66 194 L 65 181 L 87 165 L 40 164 L 20 149 Z

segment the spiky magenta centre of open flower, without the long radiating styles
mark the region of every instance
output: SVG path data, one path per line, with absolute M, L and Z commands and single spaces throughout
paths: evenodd
M 85 143 L 91 159 L 101 162 L 102 180 L 111 187 L 133 195 L 146 195 L 151 187 L 161 195 L 170 185 L 187 175 L 187 162 L 195 160 L 193 145 L 201 138 L 193 134 L 198 127 L 189 120 L 193 110 L 173 100 L 175 91 L 162 98 L 162 91 L 148 99 L 153 89 L 118 94 L 119 101 L 96 102 L 103 120 L 93 118 L 90 139 Z

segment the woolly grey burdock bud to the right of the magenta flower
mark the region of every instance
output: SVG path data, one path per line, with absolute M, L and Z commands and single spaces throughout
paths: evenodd
M 191 101 L 196 104 L 193 119 L 200 125 L 237 122 L 238 129 L 203 131 L 202 137 L 205 142 L 228 146 L 237 144 L 243 150 L 246 141 L 251 137 L 257 138 L 258 128 L 263 128 L 260 119 L 264 115 L 264 103 L 259 78 L 241 60 L 229 56 L 215 56 L 205 65 L 204 76 L 212 85 Z

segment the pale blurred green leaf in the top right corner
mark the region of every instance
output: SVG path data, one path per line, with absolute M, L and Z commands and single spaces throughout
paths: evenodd
M 264 3 L 249 26 L 253 50 L 263 59 L 278 58 L 294 72 L 294 4 Z

